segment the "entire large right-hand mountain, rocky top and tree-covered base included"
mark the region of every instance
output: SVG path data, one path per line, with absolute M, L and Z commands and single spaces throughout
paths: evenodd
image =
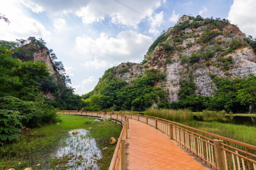
M 88 110 L 254 112 L 256 41 L 220 18 L 182 16 L 149 47 L 140 64 L 109 68 L 83 95 Z

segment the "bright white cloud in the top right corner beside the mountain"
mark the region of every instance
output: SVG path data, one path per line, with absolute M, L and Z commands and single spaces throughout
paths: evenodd
M 232 24 L 237 24 L 246 35 L 256 38 L 256 9 L 255 0 L 234 0 L 229 10 L 228 19 Z

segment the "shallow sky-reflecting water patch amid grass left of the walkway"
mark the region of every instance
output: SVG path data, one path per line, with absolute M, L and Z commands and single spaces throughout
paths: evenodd
M 76 135 L 73 134 L 74 130 L 77 130 Z M 102 154 L 95 139 L 88 135 L 89 131 L 86 129 L 74 130 L 68 132 L 69 136 L 61 141 L 61 147 L 52 157 L 69 159 L 65 165 L 59 165 L 67 166 L 67 170 L 98 170 L 97 160 L 102 158 Z

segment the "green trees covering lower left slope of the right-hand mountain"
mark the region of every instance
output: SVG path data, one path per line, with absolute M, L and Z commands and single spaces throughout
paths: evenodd
M 135 79 L 132 85 L 127 85 L 123 80 L 105 73 L 99 84 L 94 88 L 94 93 L 85 99 L 88 110 L 133 110 L 144 111 L 153 103 L 161 108 L 168 108 L 166 92 L 162 88 L 154 87 L 157 82 L 165 79 L 165 75 L 155 69 L 147 69 L 145 76 Z

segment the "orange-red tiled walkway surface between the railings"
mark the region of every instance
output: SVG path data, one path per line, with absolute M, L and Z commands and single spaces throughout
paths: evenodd
M 128 170 L 207 170 L 159 130 L 129 119 Z

